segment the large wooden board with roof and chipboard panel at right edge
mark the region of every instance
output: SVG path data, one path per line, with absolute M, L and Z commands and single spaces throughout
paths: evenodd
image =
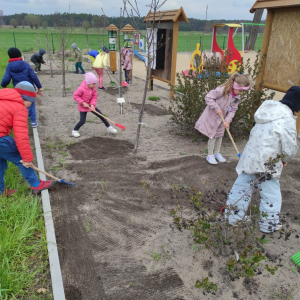
M 259 8 L 267 9 L 261 47 L 261 55 L 267 56 L 256 88 L 264 82 L 264 88 L 286 93 L 291 86 L 300 85 L 300 0 L 257 0 L 250 12 Z M 297 134 L 299 129 L 300 116 Z

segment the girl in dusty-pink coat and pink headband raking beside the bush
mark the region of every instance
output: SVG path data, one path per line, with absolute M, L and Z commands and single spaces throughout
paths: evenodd
M 206 97 L 205 110 L 197 121 L 195 128 L 206 135 L 208 140 L 208 156 L 206 160 L 213 165 L 225 162 L 220 149 L 225 128 L 229 128 L 240 103 L 240 95 L 250 88 L 250 80 L 246 75 L 234 72 L 221 86 L 210 91 Z M 225 119 L 223 124 L 221 115 Z

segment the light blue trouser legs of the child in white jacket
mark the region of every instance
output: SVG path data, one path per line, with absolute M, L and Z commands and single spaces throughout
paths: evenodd
M 229 224 L 234 224 L 243 219 L 251 202 L 254 189 L 253 181 L 255 179 L 255 175 L 248 175 L 244 172 L 236 179 L 226 202 L 227 206 L 232 205 L 235 207 L 231 211 L 225 210 L 225 217 L 228 218 Z M 260 230 L 266 233 L 273 232 L 279 223 L 282 203 L 279 180 L 266 180 L 258 185 L 258 190 L 260 193 Z

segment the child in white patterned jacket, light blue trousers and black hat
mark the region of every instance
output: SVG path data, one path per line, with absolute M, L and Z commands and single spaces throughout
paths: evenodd
M 256 111 L 256 124 L 236 167 L 239 176 L 226 202 L 225 215 L 229 224 L 235 225 L 244 218 L 253 188 L 259 186 L 260 230 L 270 233 L 282 228 L 279 179 L 283 167 L 298 150 L 294 115 L 299 111 L 298 86 L 291 87 L 281 101 L 267 100 Z M 278 159 L 278 155 L 284 158 Z M 277 161 L 274 166 L 270 165 L 270 158 Z

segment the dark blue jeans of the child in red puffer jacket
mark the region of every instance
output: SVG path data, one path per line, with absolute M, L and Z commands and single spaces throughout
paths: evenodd
M 4 173 L 7 169 L 7 161 L 14 163 L 20 169 L 30 186 L 39 185 L 40 181 L 34 170 L 25 168 L 20 163 L 21 159 L 15 140 L 8 135 L 0 137 L 0 195 L 4 192 Z

